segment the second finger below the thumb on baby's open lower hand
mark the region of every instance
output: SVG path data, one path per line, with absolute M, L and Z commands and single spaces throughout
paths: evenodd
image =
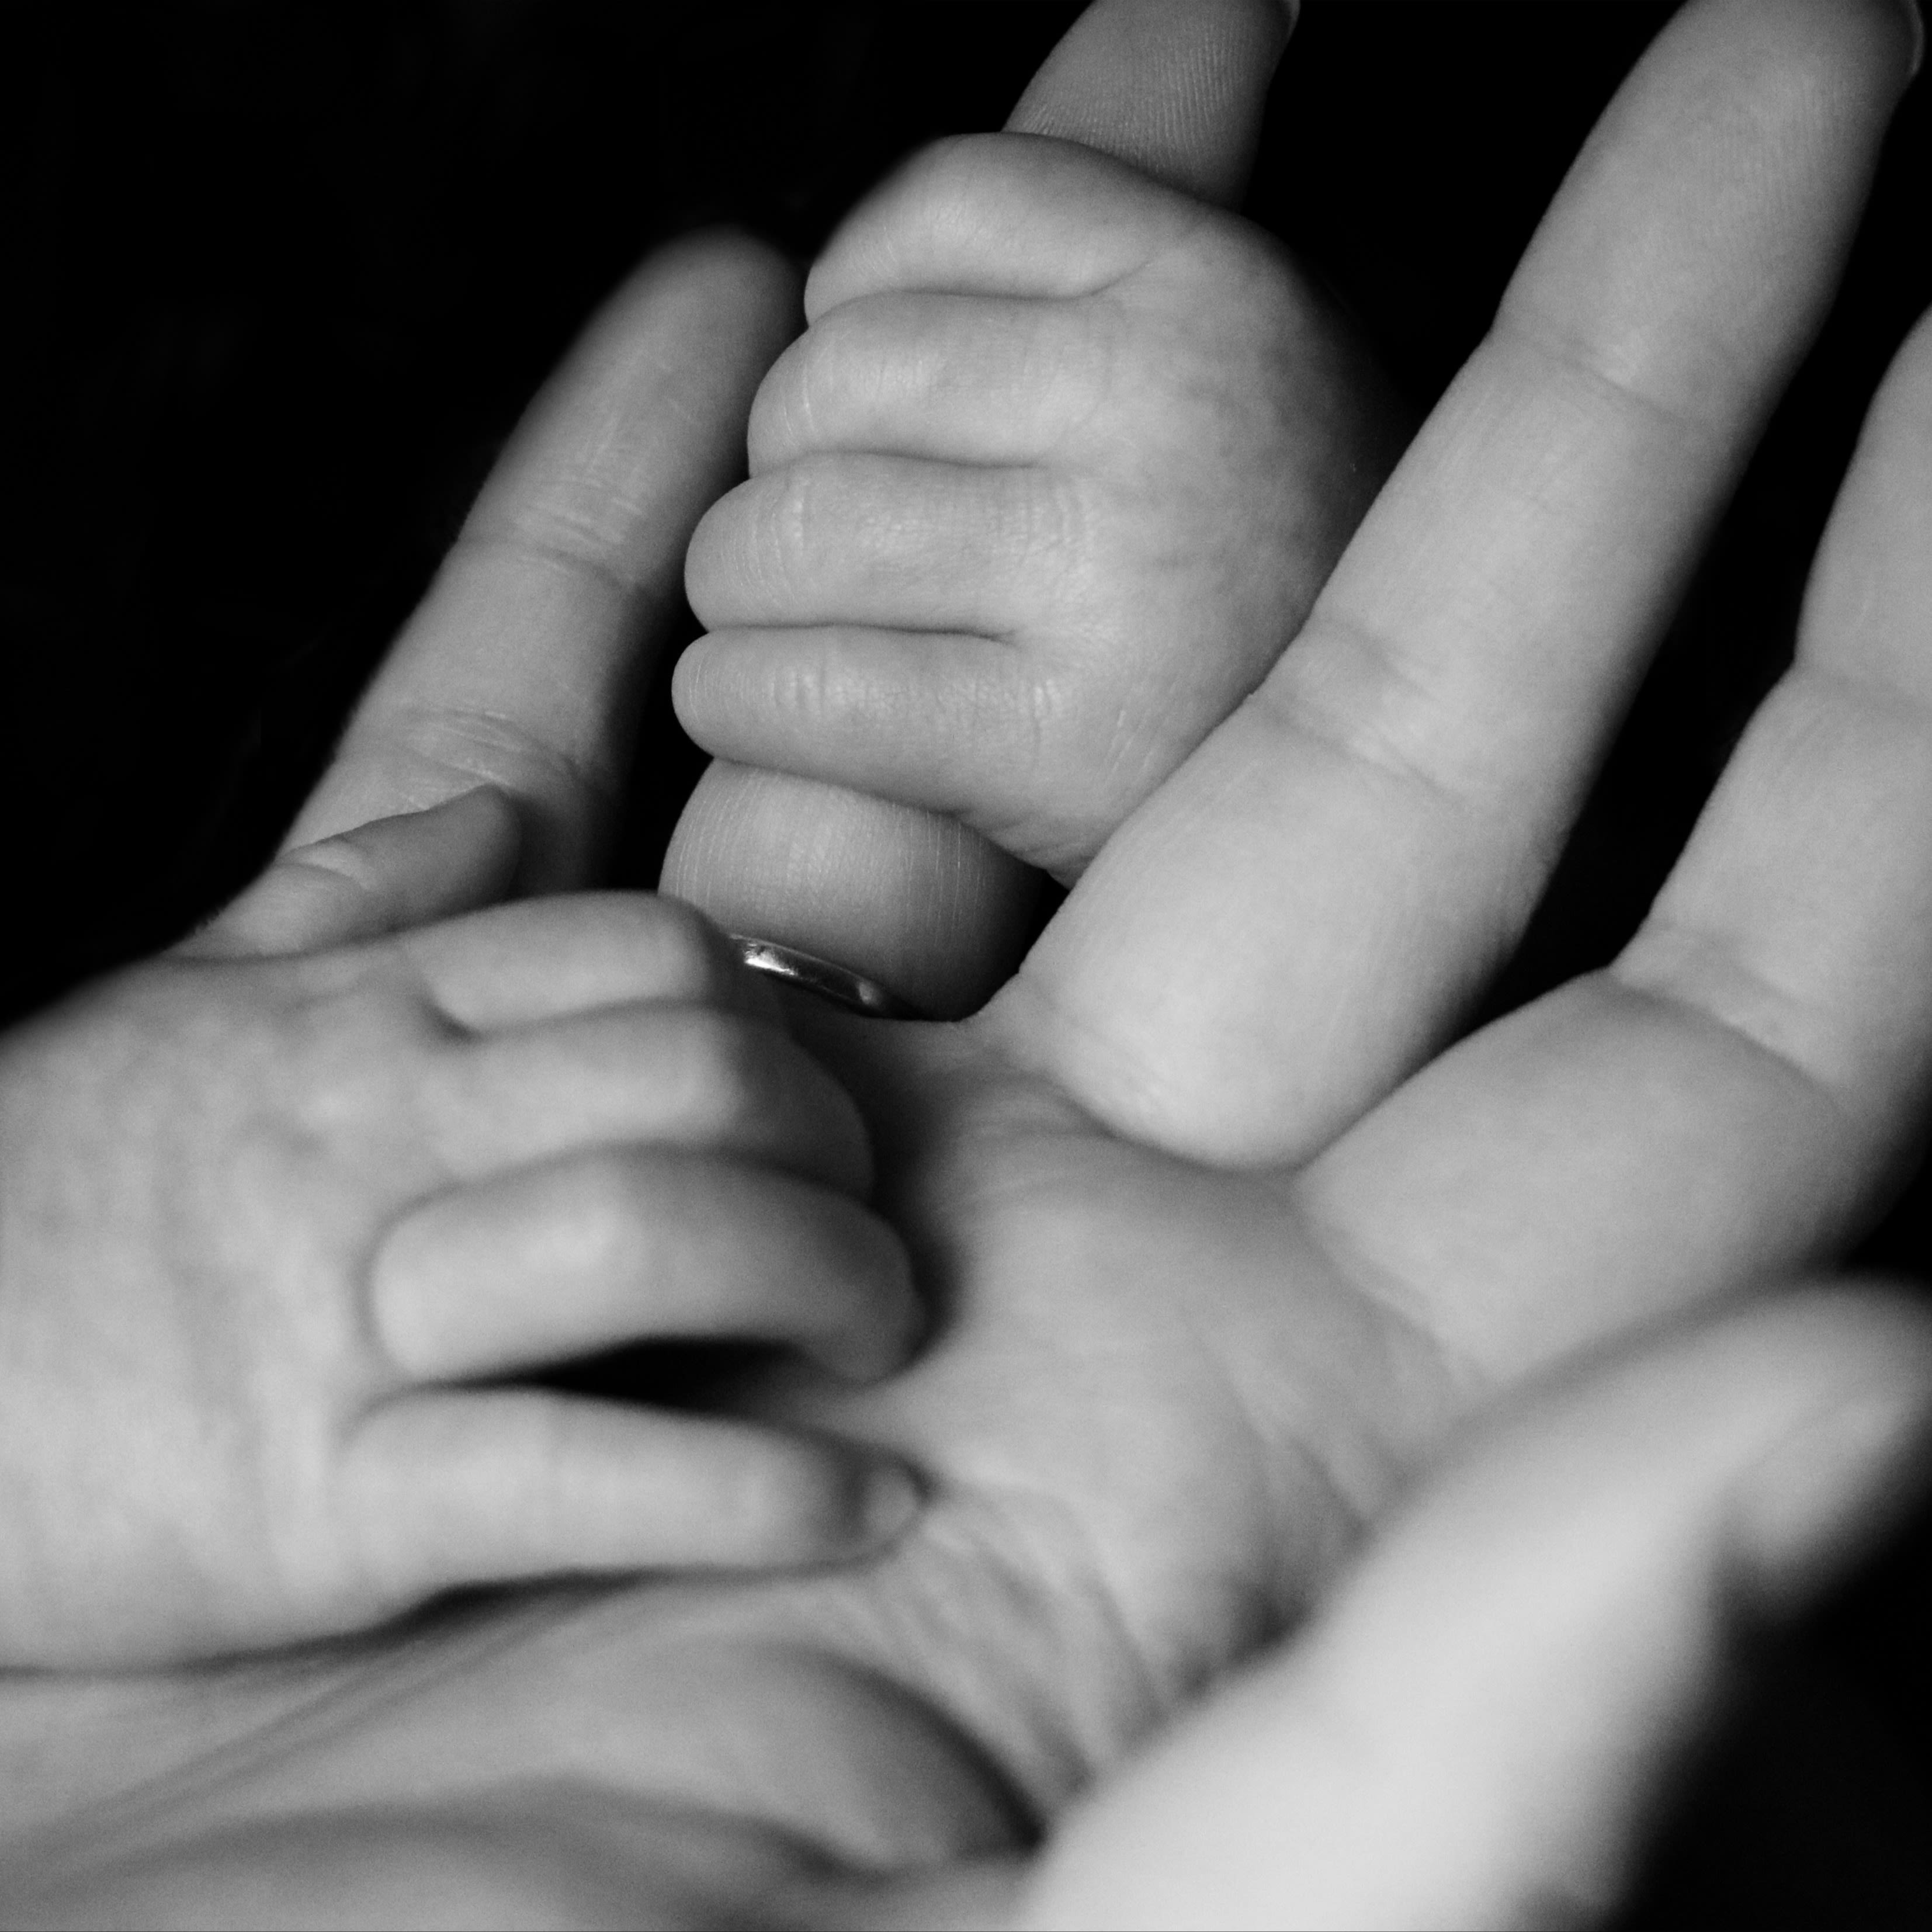
M 653 1144 L 765 1161 L 850 1194 L 871 1184 L 844 1088 L 775 1024 L 717 1007 L 645 1001 L 483 1034 L 435 1063 L 421 1105 L 464 1180 Z

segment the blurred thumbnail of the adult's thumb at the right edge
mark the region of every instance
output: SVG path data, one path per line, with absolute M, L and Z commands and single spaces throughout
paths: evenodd
M 1895 1526 L 1932 1474 L 1932 1397 L 1855 1397 L 1785 1435 L 1743 1480 L 1743 1557 L 1774 1600 L 1803 1602 Z

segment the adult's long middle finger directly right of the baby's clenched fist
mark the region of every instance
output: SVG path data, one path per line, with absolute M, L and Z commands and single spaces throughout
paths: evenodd
M 1283 1159 L 1435 1051 L 1824 313 L 1911 60 L 1891 0 L 1660 35 L 1302 636 L 1009 995 L 1088 1107 Z

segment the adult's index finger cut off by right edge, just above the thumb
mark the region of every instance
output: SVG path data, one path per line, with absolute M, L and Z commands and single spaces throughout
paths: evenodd
M 1888 375 L 1797 661 L 1604 974 L 1463 1041 L 1302 1177 L 1497 1372 L 1833 1254 L 1932 1082 L 1932 323 Z M 1445 1231 L 1453 1231 L 1445 1235 Z

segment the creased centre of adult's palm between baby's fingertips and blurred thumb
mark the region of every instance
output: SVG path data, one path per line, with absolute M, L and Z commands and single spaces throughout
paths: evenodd
M 1306 1602 L 1399 1455 L 1389 1395 L 1432 1362 L 1271 1180 L 1099 1132 L 983 1041 L 852 1045 L 900 1103 L 891 1202 L 943 1331 L 889 1387 L 767 1399 L 906 1447 L 937 1493 L 881 1569 L 775 1596 L 846 1654 L 877 1633 L 852 1662 L 1051 1808 Z

